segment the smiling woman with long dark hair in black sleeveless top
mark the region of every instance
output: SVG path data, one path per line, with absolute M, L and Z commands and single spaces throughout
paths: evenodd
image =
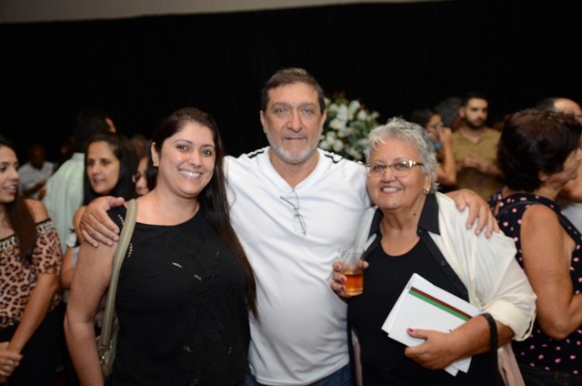
M 106 384 L 244 381 L 248 310 L 256 313 L 256 289 L 230 225 L 224 153 L 214 119 L 196 108 L 177 110 L 156 129 L 156 188 L 137 198 L 135 230 L 117 285 L 119 334 Z M 125 207 L 108 215 L 121 227 Z M 86 243 L 79 251 L 65 332 L 85 385 L 104 383 L 93 319 L 114 252 Z

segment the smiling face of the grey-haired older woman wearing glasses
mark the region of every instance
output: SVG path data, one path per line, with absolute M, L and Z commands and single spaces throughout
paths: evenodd
M 405 139 L 387 137 L 384 144 L 376 145 L 369 164 L 393 165 L 403 160 L 420 162 L 416 148 Z M 431 178 L 425 176 L 419 166 L 410 168 L 406 177 L 394 177 L 390 168 L 386 168 L 381 177 L 367 177 L 370 198 L 385 214 L 392 210 L 415 210 L 424 203 L 424 190 L 430 187 Z

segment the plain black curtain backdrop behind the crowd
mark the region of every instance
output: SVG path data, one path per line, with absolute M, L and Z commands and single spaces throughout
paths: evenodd
M 179 107 L 211 113 L 228 152 L 266 145 L 259 91 L 305 67 L 388 117 L 484 93 L 489 124 L 547 96 L 582 102 L 576 2 L 334 5 L 211 15 L 0 25 L 0 132 L 49 157 L 75 114 L 103 109 L 150 137 Z

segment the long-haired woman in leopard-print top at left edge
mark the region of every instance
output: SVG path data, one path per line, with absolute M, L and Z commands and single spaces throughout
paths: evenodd
M 45 206 L 19 195 L 17 168 L 0 137 L 0 383 L 50 385 L 62 336 L 61 248 Z

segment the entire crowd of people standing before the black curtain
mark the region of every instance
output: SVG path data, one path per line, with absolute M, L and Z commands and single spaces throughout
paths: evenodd
M 410 326 L 424 343 L 408 348 L 381 330 L 414 273 L 490 314 L 527 384 L 582 384 L 580 107 L 550 98 L 497 129 L 470 93 L 454 118 L 437 106 L 376 127 L 363 164 L 317 147 L 324 99 L 304 69 L 277 71 L 259 109 L 268 146 L 239 157 L 194 107 L 150 140 L 80 113 L 55 172 L 38 147 L 18 168 L 2 138 L 0 384 L 50 385 L 55 358 L 70 385 L 492 384 L 486 318 Z M 95 331 L 131 198 L 104 378 Z M 337 250 L 359 239 L 365 290 L 347 296 Z

